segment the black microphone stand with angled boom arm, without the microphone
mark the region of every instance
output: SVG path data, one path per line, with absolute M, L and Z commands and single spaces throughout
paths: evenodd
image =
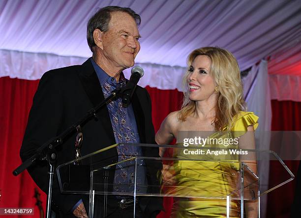
M 29 168 L 36 160 L 47 160 L 49 164 L 49 185 L 48 185 L 48 194 L 47 194 L 47 207 L 46 207 L 46 218 L 50 218 L 50 208 L 51 208 L 51 193 L 52 193 L 52 181 L 54 175 L 55 164 L 58 159 L 58 154 L 56 151 L 56 146 L 63 144 L 64 139 L 71 135 L 73 132 L 76 131 L 77 126 L 84 125 L 86 122 L 90 121 L 92 118 L 97 121 L 97 112 L 109 103 L 112 100 L 116 100 L 120 95 L 124 92 L 124 89 L 117 88 L 112 91 L 111 95 L 100 102 L 95 108 L 90 109 L 87 112 L 87 115 L 77 121 L 75 124 L 71 125 L 65 131 L 63 131 L 59 136 L 54 137 L 44 143 L 41 147 L 39 147 L 35 154 L 32 155 L 29 159 L 23 162 L 18 168 L 13 171 L 13 175 L 17 176 L 27 168 Z

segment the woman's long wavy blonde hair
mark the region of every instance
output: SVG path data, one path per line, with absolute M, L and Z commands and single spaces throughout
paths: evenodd
M 244 110 L 244 99 L 241 84 L 241 71 L 234 55 L 222 48 L 204 47 L 193 50 L 188 56 L 188 69 L 198 55 L 206 55 L 211 60 L 210 74 L 217 84 L 217 104 L 215 107 L 215 118 L 212 121 L 216 131 L 221 131 L 228 126 L 227 130 L 233 127 L 235 115 Z M 188 97 L 189 87 L 186 71 L 183 78 L 185 87 L 183 104 L 179 111 L 178 119 L 185 121 L 187 116 L 196 110 L 196 102 Z

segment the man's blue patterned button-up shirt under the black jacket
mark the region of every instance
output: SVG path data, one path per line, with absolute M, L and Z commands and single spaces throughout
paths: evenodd
M 104 97 L 109 97 L 116 88 L 125 86 L 125 78 L 120 73 L 120 79 L 116 79 L 105 73 L 92 58 L 90 58 L 94 70 L 99 79 Z M 121 98 L 107 104 L 111 119 L 116 143 L 140 143 L 137 123 L 134 110 L 130 104 L 128 107 L 122 106 Z M 142 148 L 139 146 L 118 145 L 118 161 L 128 159 L 133 156 L 143 156 Z M 145 166 L 143 161 L 140 166 Z M 135 161 L 126 161 L 117 165 L 114 178 L 114 192 L 133 192 Z M 119 185 L 118 185 L 119 184 Z M 139 167 L 137 171 L 137 184 L 147 184 L 145 167 Z M 139 188 L 137 188 L 139 192 Z

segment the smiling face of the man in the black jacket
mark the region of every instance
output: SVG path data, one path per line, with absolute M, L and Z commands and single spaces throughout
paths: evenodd
M 132 67 L 140 50 L 135 20 L 125 12 L 112 12 L 109 30 L 102 34 L 103 56 L 112 69 Z

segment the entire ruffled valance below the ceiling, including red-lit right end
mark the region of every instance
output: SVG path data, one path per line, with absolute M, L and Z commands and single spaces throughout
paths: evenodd
M 301 57 L 301 53 L 298 54 Z M 0 49 L 0 77 L 10 76 L 28 80 L 40 79 L 42 74 L 56 68 L 70 65 L 80 65 L 87 58 L 66 57 L 46 53 L 30 53 Z M 279 66 L 282 66 L 279 62 Z M 299 62 L 300 63 L 300 62 Z M 298 62 L 297 62 L 298 64 Z M 297 66 L 296 64 L 296 66 Z M 183 67 L 170 67 L 157 64 L 137 63 L 145 74 L 140 79 L 139 85 L 150 86 L 162 90 L 178 89 L 182 91 L 182 77 L 186 71 Z M 269 63 L 269 73 L 270 73 Z M 300 65 L 301 66 L 301 65 Z M 272 69 L 277 69 L 273 67 Z M 280 68 L 281 69 L 281 68 Z M 297 67 L 296 67 L 297 69 Z M 284 72 L 290 72 L 287 69 Z M 124 71 L 125 77 L 130 77 L 130 69 Z M 249 75 L 258 74 L 251 71 Z M 250 89 L 253 89 L 254 78 L 249 76 L 243 79 L 244 96 L 249 98 Z M 269 74 L 271 99 L 301 101 L 301 74 Z M 248 88 L 246 88 L 248 87 Z

